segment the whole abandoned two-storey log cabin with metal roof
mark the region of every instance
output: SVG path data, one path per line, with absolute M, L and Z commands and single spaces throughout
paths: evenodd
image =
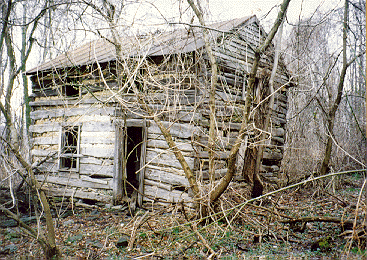
M 219 68 L 219 179 L 239 132 L 254 49 L 266 32 L 256 16 L 208 27 Z M 31 156 L 33 163 L 40 162 L 37 179 L 52 196 L 117 204 L 135 200 L 139 205 L 190 201 L 184 171 L 152 113 L 169 129 L 197 180 L 205 183 L 211 67 L 201 28 L 127 34 L 120 43 L 98 39 L 27 71 L 32 81 Z M 272 46 L 260 60 L 254 107 L 262 103 L 260 92 L 268 88 L 273 62 Z M 269 182 L 276 182 L 281 171 L 290 79 L 281 59 L 261 168 Z M 243 180 L 246 148 L 259 120 L 253 120 L 238 153 L 237 181 Z

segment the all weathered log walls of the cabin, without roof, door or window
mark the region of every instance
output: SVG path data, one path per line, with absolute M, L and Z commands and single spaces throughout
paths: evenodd
M 216 178 L 223 176 L 227 169 L 227 157 L 238 136 L 242 121 L 244 88 L 254 59 L 254 48 L 263 40 L 264 32 L 256 22 L 249 22 L 230 34 L 215 40 L 214 54 L 219 64 L 219 81 L 216 86 Z M 258 77 L 270 73 L 273 50 L 262 57 Z M 211 72 L 208 58 L 202 49 L 194 53 L 152 57 L 150 66 L 142 68 L 134 84 L 145 93 L 150 109 L 160 115 L 164 125 L 170 130 L 176 145 L 182 151 L 189 167 L 198 180 L 208 180 L 209 103 L 208 86 Z M 288 76 L 280 63 L 275 78 L 277 92 L 271 117 L 271 136 L 264 151 L 261 168 L 264 178 L 276 181 L 281 171 L 285 142 L 287 113 Z M 79 70 L 69 70 L 69 76 L 77 80 L 68 81 L 63 74 L 56 79 L 52 73 L 37 74 L 32 77 L 35 100 L 31 102 L 32 156 L 42 160 L 55 153 L 39 167 L 40 181 L 52 194 L 66 194 L 76 198 L 112 201 L 113 176 L 116 156 L 116 125 L 114 120 L 142 120 L 146 117 L 147 142 L 144 178 L 144 198 L 146 201 L 177 202 L 189 200 L 189 184 L 181 165 L 169 149 L 160 129 L 147 116 L 131 93 L 131 85 L 111 97 L 105 89 L 107 83 L 112 90 L 117 89 L 113 62 L 103 64 L 104 80 L 96 74 L 95 68 L 84 66 Z M 80 75 L 77 73 L 83 71 Z M 144 73 L 143 73 L 144 72 Z M 79 96 L 64 98 L 63 84 L 80 87 Z M 256 93 L 256 91 L 255 91 Z M 256 102 L 254 106 L 256 106 Z M 60 130 L 64 125 L 80 126 L 80 158 L 77 172 L 60 172 L 57 158 L 60 147 Z M 244 150 L 254 135 L 256 125 L 247 132 L 238 155 L 240 179 Z M 64 193 L 62 192 L 64 191 Z

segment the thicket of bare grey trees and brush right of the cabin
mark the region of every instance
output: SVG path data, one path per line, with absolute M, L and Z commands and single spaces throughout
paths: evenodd
M 288 119 L 289 148 L 286 151 L 284 165 L 290 170 L 290 174 L 295 176 L 297 172 L 313 174 L 320 171 L 320 167 L 323 174 L 329 167 L 333 170 L 350 169 L 352 165 L 359 168 L 363 167 L 363 161 L 365 162 L 362 155 L 366 149 L 365 142 L 362 141 L 364 137 L 358 130 L 358 125 L 363 125 L 365 119 L 361 114 L 358 120 L 353 116 L 348 100 L 350 91 L 356 85 L 348 84 L 348 81 L 344 80 L 344 78 L 353 81 L 361 79 L 360 76 L 364 71 L 362 69 L 364 57 L 361 55 L 365 47 L 364 44 L 358 45 L 361 50 L 357 50 L 358 48 L 343 45 L 341 40 L 333 43 L 329 40 L 329 35 L 335 35 L 333 39 L 344 40 L 348 37 L 348 41 L 352 41 L 353 37 L 360 35 L 358 31 L 360 32 L 364 23 L 351 23 L 343 29 L 344 36 L 340 35 L 340 27 L 335 21 L 341 19 L 342 24 L 348 23 L 350 12 L 346 16 L 344 11 L 343 18 L 339 18 L 340 14 L 340 9 L 328 13 L 316 12 L 312 17 L 299 21 L 293 28 L 291 37 L 294 39 L 291 43 L 293 51 L 289 60 L 291 66 L 295 68 L 299 88 L 290 92 L 292 98 Z M 356 29 L 351 31 L 351 28 Z M 347 56 L 346 62 L 344 62 L 344 56 Z M 348 72 L 347 69 L 350 66 L 357 66 L 358 73 Z M 353 100 L 354 106 L 360 105 L 362 101 L 361 98 L 356 97 Z M 339 109 L 340 106 L 344 109 Z M 331 124 L 332 121 L 334 123 Z M 330 130 L 331 126 L 334 130 Z M 350 135 L 350 131 L 355 131 L 354 129 L 357 132 Z M 338 148 L 331 153 L 333 143 Z M 325 146 L 328 147 L 326 153 Z M 325 156 L 326 154 L 329 156 Z M 353 163 L 346 164 L 347 161 L 353 161 Z

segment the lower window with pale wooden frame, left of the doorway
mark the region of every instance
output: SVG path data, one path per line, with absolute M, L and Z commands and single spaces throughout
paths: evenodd
M 79 170 L 79 136 L 80 126 L 66 126 L 62 128 L 60 170 Z

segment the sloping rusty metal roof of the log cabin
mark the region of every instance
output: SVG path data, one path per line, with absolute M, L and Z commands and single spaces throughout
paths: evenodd
M 231 32 L 243 26 L 249 21 L 257 21 L 256 16 L 237 18 L 229 21 L 219 22 L 208 26 L 211 37 L 216 39 L 223 33 Z M 177 53 L 187 53 L 200 49 L 204 46 L 199 27 L 193 27 L 190 31 L 186 29 L 175 29 L 146 36 L 121 37 L 122 53 L 126 57 L 134 56 L 160 56 Z M 57 56 L 55 59 L 41 63 L 37 67 L 28 70 L 26 74 L 35 74 L 59 68 L 68 68 L 103 63 L 116 59 L 115 46 L 106 39 L 98 39 Z

